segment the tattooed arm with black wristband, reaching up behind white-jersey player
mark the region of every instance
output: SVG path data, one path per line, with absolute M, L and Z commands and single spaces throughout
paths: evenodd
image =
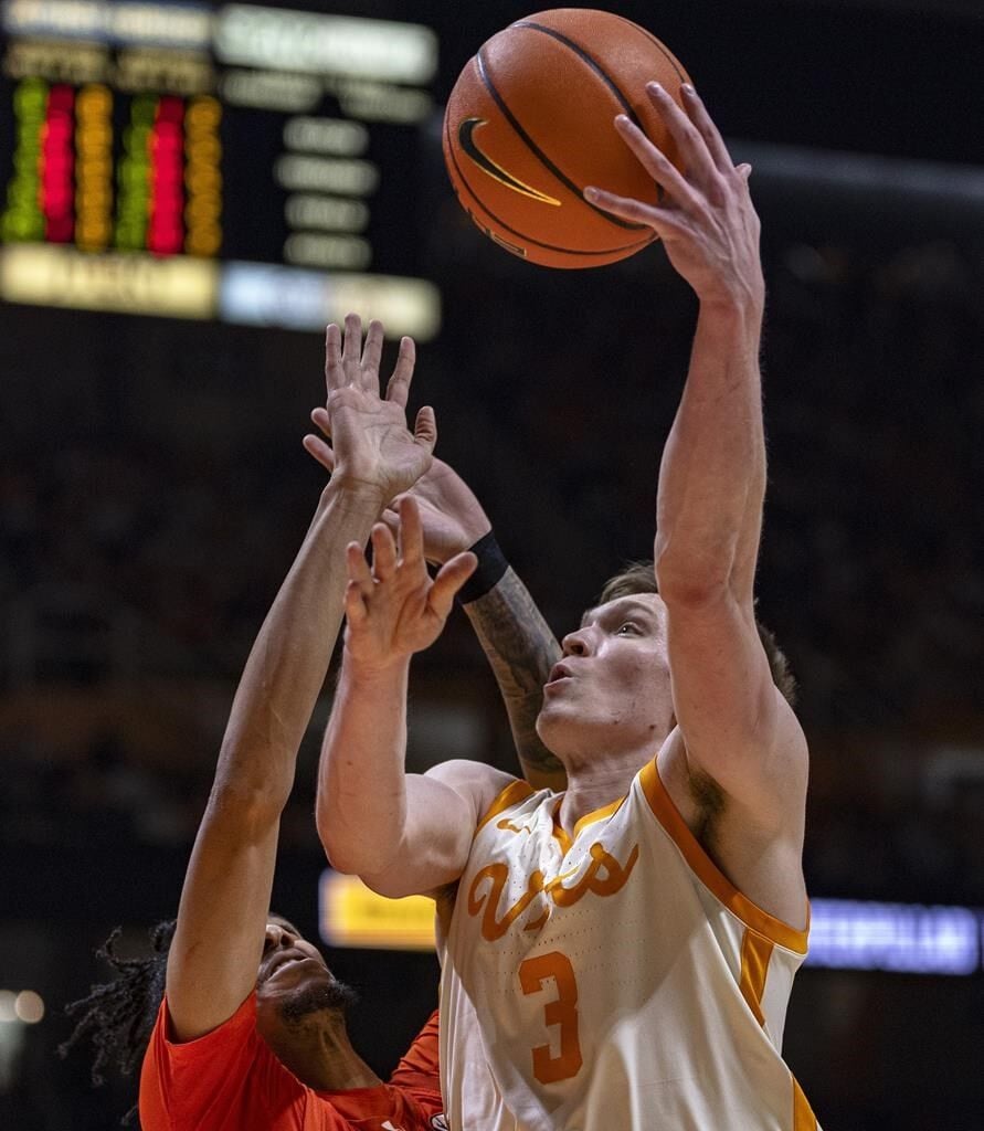
M 330 470 L 330 452 L 323 456 Z M 543 687 L 561 657 L 556 638 L 503 558 L 482 504 L 452 467 L 435 458 L 409 494 L 420 507 L 429 562 L 443 566 L 463 550 L 475 553 L 475 572 L 458 601 L 499 684 L 523 775 L 536 789 L 563 789 L 563 766 L 536 733 Z M 387 508 L 383 521 L 396 530 L 395 507 Z

